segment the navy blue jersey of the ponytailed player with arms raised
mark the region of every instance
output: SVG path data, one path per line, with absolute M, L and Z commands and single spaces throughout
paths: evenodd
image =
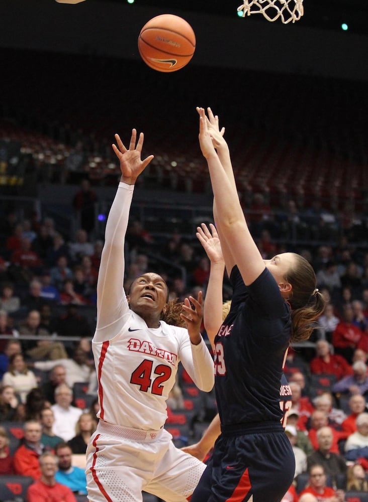
M 280 423 L 280 382 L 291 334 L 290 307 L 267 269 L 246 287 L 235 266 L 230 282 L 230 312 L 215 337 L 215 387 L 221 424 Z

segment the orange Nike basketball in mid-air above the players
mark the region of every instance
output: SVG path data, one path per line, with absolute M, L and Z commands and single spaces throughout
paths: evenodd
M 162 72 L 176 71 L 192 59 L 196 36 L 185 19 L 162 14 L 143 26 L 138 37 L 138 49 L 150 68 Z

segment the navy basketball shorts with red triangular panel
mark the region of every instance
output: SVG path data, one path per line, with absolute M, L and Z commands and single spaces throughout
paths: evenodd
M 222 432 L 191 502 L 280 502 L 293 482 L 295 457 L 274 422 Z

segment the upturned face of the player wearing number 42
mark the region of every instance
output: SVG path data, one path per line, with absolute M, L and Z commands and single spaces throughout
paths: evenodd
M 167 286 L 158 274 L 148 272 L 138 277 L 127 296 L 130 308 L 141 317 L 150 312 L 159 315 L 166 305 Z

